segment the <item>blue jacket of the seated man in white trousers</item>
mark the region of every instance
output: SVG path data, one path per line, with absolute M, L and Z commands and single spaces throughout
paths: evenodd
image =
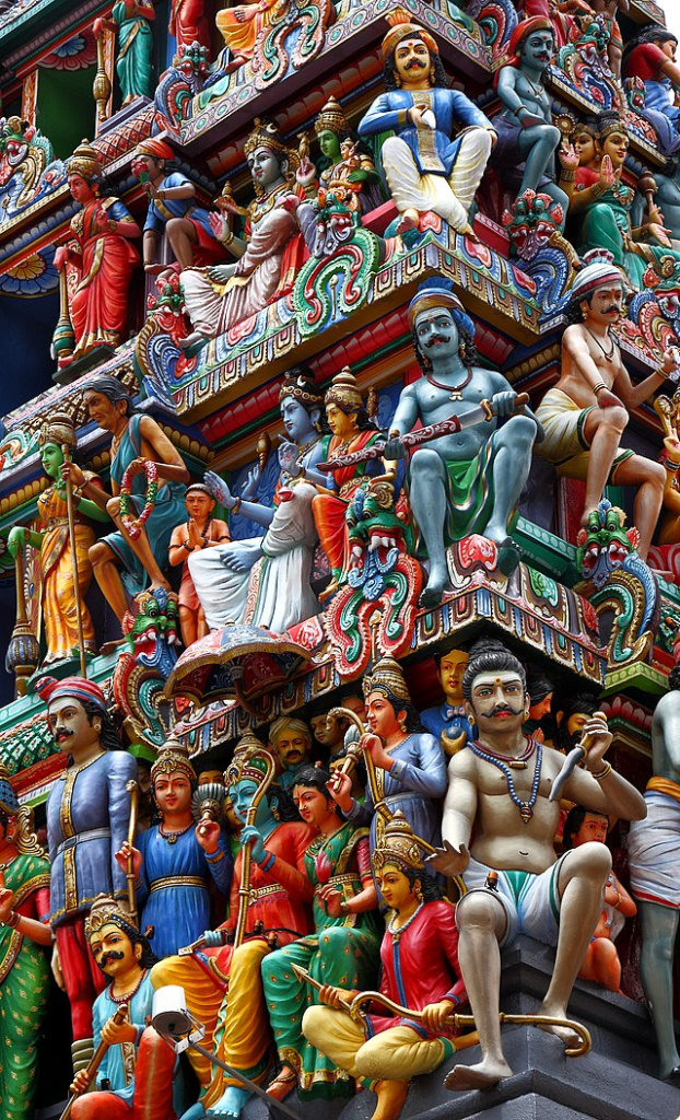
M 437 121 L 434 132 L 430 129 L 417 129 L 407 120 L 409 109 L 426 102 Z M 421 175 L 445 175 L 448 178 L 462 143 L 460 137 L 453 141 L 450 139 L 455 124 L 463 124 L 464 128 L 492 128 L 488 118 L 457 90 L 435 88 L 417 94 L 394 90 L 375 99 L 357 131 L 361 137 L 395 132 L 410 148 Z

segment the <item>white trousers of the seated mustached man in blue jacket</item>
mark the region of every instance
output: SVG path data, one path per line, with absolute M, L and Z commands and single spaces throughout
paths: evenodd
M 382 165 L 394 205 L 407 209 L 434 211 L 453 230 L 464 230 L 467 215 L 491 155 L 492 134 L 471 128 L 460 137 L 460 148 L 448 178 L 421 175 L 411 149 L 400 137 L 389 137 L 382 146 Z

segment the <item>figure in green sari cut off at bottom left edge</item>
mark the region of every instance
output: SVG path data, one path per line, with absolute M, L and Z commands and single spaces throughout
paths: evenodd
M 38 1088 L 38 1043 L 49 996 L 45 949 L 52 931 L 49 864 L 0 765 L 0 1110 L 31 1120 Z

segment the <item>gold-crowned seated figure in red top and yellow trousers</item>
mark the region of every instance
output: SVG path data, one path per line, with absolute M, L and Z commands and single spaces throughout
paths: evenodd
M 347 1014 L 357 995 L 328 980 L 302 1019 L 306 1038 L 378 1096 L 372 1120 L 397 1120 L 412 1077 L 431 1073 L 456 1049 L 451 1015 L 467 1001 L 450 903 L 422 864 L 418 838 L 402 813 L 385 825 L 372 857 L 389 907 L 380 949 L 381 1000 L 358 1021 Z M 389 1008 L 389 1010 L 392 1010 Z M 410 1012 L 410 1014 L 409 1014 Z

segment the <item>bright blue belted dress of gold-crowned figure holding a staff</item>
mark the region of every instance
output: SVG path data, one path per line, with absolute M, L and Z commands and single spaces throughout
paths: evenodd
M 211 928 L 209 875 L 217 889 L 229 895 L 234 866 L 229 839 L 217 841 L 223 858 L 211 862 L 196 839 L 194 828 L 169 843 L 156 828 L 140 833 L 137 847 L 142 857 L 137 880 L 137 900 L 141 928 L 153 926 L 151 948 L 158 958 L 170 956 Z M 164 883 L 165 879 L 188 883 Z

